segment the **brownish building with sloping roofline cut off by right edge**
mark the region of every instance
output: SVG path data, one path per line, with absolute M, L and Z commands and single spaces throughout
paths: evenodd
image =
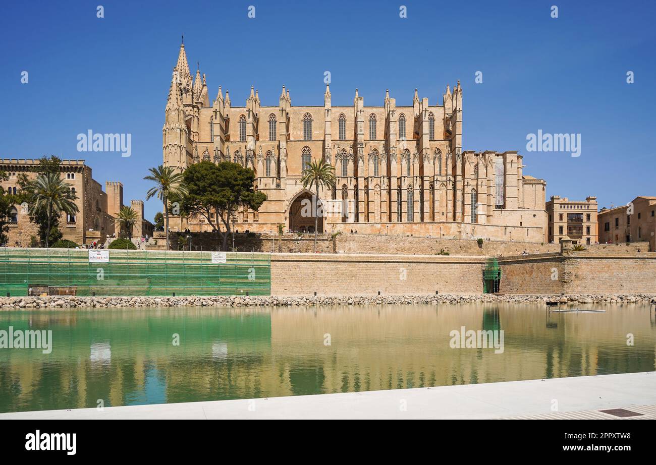
M 649 251 L 656 251 L 656 197 L 639 195 L 622 207 L 599 212 L 601 243 L 649 242 Z

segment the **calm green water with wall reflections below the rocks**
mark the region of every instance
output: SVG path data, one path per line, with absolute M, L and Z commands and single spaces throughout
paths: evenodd
M 655 369 L 653 307 L 587 308 L 607 312 L 511 304 L 5 311 L 0 330 L 50 330 L 52 352 L 0 348 L 0 412 Z M 462 326 L 504 331 L 503 352 L 451 348 L 449 333 Z

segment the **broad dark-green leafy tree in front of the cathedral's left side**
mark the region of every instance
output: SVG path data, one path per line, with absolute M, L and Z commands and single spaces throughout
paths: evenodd
M 255 172 L 230 161 L 194 163 L 184 171 L 184 184 L 188 192 L 182 210 L 207 220 L 222 251 L 228 250 L 230 221 L 238 209 L 256 211 L 266 200 L 266 194 L 255 190 Z

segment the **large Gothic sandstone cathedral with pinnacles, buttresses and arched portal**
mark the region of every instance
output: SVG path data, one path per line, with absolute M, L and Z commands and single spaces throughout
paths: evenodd
M 320 192 L 326 213 L 319 232 L 413 234 L 544 241 L 544 180 L 523 174 L 517 152 L 462 150 L 462 88 L 447 85 L 442 104 L 419 98 L 397 106 L 292 106 L 283 86 L 276 106 L 262 106 L 251 87 L 233 106 L 218 87 L 211 102 L 205 75 L 190 73 L 184 44 L 173 70 L 163 127 L 164 164 L 184 171 L 199 161 L 229 160 L 256 174 L 267 195 L 258 212 L 231 218 L 239 232 L 314 231 L 312 193 L 300 182 L 305 165 L 325 157 L 337 176 Z M 305 203 L 304 203 L 305 201 Z M 335 208 L 335 205 L 339 208 Z M 310 214 L 308 214 L 308 210 Z M 209 231 L 201 219 L 174 217 L 172 230 Z

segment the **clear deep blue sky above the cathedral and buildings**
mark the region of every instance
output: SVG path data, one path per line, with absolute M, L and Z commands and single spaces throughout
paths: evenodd
M 656 195 L 653 1 L 7 1 L 0 9 L 0 156 L 85 159 L 101 184 L 123 182 L 126 203 L 144 199 L 142 178 L 162 162 L 182 33 L 211 100 L 222 85 L 243 105 L 255 85 L 262 104 L 275 105 L 285 84 L 293 104 L 321 105 L 331 71 L 333 105 L 352 104 L 356 87 L 369 105 L 382 105 L 387 88 L 409 105 L 415 87 L 441 104 L 447 83 L 460 79 L 463 150 L 518 150 L 525 174 L 546 179 L 547 198 L 597 195 L 602 207 Z M 132 156 L 77 152 L 77 134 L 89 129 L 131 133 Z M 526 135 L 538 129 L 581 133 L 581 156 L 528 153 Z M 150 201 L 146 215 L 160 209 Z

